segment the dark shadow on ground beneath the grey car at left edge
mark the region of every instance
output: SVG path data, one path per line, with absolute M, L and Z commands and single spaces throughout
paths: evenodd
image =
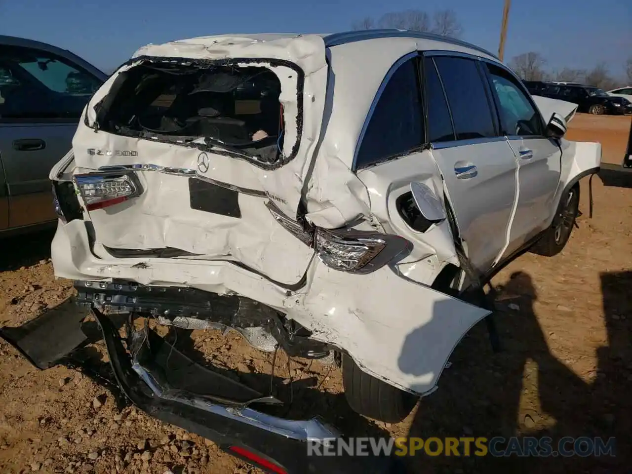
M 54 229 L 23 234 L 0 240 L 0 272 L 29 267 L 40 260 L 51 258 Z

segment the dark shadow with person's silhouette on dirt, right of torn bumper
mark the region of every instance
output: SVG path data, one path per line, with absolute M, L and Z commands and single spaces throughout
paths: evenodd
M 493 354 L 484 324 L 473 328 L 444 371 L 439 390 L 422 399 L 410 428 L 421 437 L 551 437 L 552 449 L 567 436 L 615 437 L 612 456 L 427 456 L 405 459 L 411 473 L 615 473 L 630 472 L 632 446 L 632 272 L 601 275 L 609 344 L 599 349 L 599 367 L 586 383 L 550 354 L 533 310 L 537 294 L 524 272 L 511 276 L 497 298 L 520 307 L 497 314 L 504 350 Z M 507 298 L 507 299 L 506 299 Z M 622 317 L 623 316 L 623 317 Z M 568 324 L 573 324 L 572 315 Z M 525 406 L 535 391 L 540 406 Z M 519 418 L 523 413 L 524 418 Z M 525 413 L 527 413 L 525 415 Z M 543 420 L 538 413 L 546 416 Z M 566 444 L 567 449 L 573 444 Z M 506 444 L 498 444 L 504 449 Z M 474 446 L 472 446 L 472 453 Z M 585 449 L 585 447 L 583 448 Z

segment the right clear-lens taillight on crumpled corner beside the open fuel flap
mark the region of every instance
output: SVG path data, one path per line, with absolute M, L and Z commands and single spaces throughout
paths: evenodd
M 354 229 L 316 229 L 316 253 L 320 260 L 335 270 L 366 274 L 374 272 L 402 257 L 408 241 L 396 235 Z

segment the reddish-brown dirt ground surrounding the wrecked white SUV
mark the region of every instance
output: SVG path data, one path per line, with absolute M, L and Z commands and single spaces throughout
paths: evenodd
M 568 138 L 602 142 L 603 161 L 619 164 L 629 127 L 629 117 L 578 114 Z M 632 178 L 627 179 L 632 186 Z M 406 459 L 411 472 L 629 472 L 632 191 L 607 186 L 611 181 L 593 179 L 593 219 L 588 218 L 583 181 L 583 216 L 560 255 L 528 253 L 495 277 L 500 353 L 492 353 L 485 324 L 474 327 L 451 357 L 439 389 L 396 425 L 351 412 L 335 368 L 288 361 L 279 353 L 276 374 L 285 379 L 281 395 L 288 399 L 292 391 L 289 416 L 320 415 L 350 435 L 614 436 L 617 442 L 616 458 L 421 454 Z M 73 294 L 70 281 L 54 279 L 51 236 L 0 241 L 0 325 L 23 324 Z M 186 343 L 246 382 L 261 384 L 255 372 L 269 373 L 271 356 L 239 337 L 195 331 Z M 99 344 L 95 348 L 102 351 Z M 114 392 L 77 370 L 58 366 L 39 371 L 0 343 L 1 473 L 169 470 L 260 472 L 196 435 L 121 406 Z

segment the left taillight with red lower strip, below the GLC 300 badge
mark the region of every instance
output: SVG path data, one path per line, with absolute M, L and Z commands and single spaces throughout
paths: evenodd
M 142 193 L 135 174 L 78 174 L 75 180 L 87 210 L 119 204 Z

